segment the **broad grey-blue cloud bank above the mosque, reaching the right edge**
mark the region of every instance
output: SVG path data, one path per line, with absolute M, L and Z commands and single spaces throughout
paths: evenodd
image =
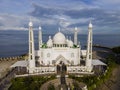
M 41 23 L 51 24 L 59 24 L 63 30 L 77 27 L 87 28 L 89 21 L 93 18 L 92 22 L 94 27 L 105 27 L 106 29 L 110 29 L 111 27 L 114 29 L 118 29 L 116 27 L 119 26 L 119 14 L 116 11 L 106 11 L 100 8 L 82 8 L 82 9 L 64 9 L 60 8 L 52 8 L 48 6 L 35 5 L 33 6 L 34 10 L 30 13 L 30 15 L 40 18 L 42 20 Z M 62 18 L 62 22 L 61 22 Z M 46 22 L 45 22 L 46 21 Z M 56 25 L 57 25 L 56 24 Z M 82 30 L 83 30 L 82 29 Z M 97 28 L 96 28 L 97 29 Z M 102 28 L 101 28 L 102 29 Z M 83 30 L 82 32 L 86 32 Z

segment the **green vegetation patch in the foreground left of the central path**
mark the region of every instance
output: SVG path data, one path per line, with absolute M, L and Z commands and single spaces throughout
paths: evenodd
M 55 76 L 29 76 L 15 78 L 12 80 L 12 85 L 9 90 L 40 90 L 43 83 L 52 79 L 55 79 Z

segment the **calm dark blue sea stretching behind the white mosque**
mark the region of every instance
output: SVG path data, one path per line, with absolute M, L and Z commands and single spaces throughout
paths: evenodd
M 55 33 L 54 33 L 55 34 Z M 54 34 L 43 33 L 43 42 Z M 65 34 L 73 40 L 73 34 Z M 38 31 L 34 31 L 35 49 L 38 49 Z M 78 34 L 82 49 L 87 44 L 87 35 Z M 116 47 L 120 46 L 120 34 L 96 34 L 93 35 L 93 44 Z M 28 31 L 1 30 L 0 31 L 0 57 L 19 56 L 28 53 Z

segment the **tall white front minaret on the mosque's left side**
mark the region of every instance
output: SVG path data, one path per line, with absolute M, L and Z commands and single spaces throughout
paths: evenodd
M 34 35 L 33 23 L 29 22 L 29 73 L 33 73 L 32 68 L 35 67 L 35 49 L 34 49 Z

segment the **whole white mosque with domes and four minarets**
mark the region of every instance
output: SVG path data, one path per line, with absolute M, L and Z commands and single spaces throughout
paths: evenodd
M 29 22 L 29 73 L 56 73 L 58 66 L 65 65 L 67 73 L 92 72 L 92 23 L 88 26 L 87 50 L 81 50 L 77 39 L 78 30 L 74 30 L 74 42 L 59 31 L 49 36 L 46 43 L 42 42 L 42 28 L 39 27 L 39 50 L 34 49 L 33 23 Z M 85 65 L 81 65 L 81 56 L 84 55 Z M 37 61 L 36 58 L 37 57 Z M 39 66 L 36 65 L 36 62 Z M 57 68 L 58 67 L 58 68 Z

